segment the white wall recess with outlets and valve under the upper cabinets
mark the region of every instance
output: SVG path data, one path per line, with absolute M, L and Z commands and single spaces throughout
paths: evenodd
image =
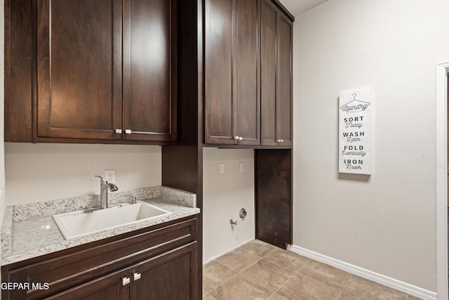
M 242 208 L 248 212 L 244 220 Z M 237 221 L 234 228 L 230 219 Z M 203 262 L 254 240 L 254 233 L 254 150 L 203 148 Z

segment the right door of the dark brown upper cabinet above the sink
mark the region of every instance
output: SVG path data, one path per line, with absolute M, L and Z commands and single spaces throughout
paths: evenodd
M 175 141 L 176 27 L 175 0 L 123 1 L 124 139 Z

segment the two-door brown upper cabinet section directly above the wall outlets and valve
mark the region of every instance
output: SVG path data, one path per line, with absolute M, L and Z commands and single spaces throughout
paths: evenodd
M 205 143 L 260 145 L 260 1 L 206 0 Z

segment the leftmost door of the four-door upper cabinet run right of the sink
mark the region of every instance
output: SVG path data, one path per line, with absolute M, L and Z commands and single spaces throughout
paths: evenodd
M 236 97 L 232 90 L 235 0 L 206 0 L 205 143 L 232 144 L 236 136 Z

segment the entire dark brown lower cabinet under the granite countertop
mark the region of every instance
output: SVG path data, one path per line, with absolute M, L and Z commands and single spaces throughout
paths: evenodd
M 21 286 L 1 299 L 199 299 L 197 236 L 185 218 L 2 266 Z

